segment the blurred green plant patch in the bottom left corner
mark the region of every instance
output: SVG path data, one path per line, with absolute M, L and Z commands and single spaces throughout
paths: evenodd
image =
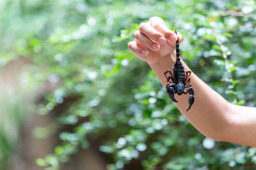
M 1 86 L 1 89 L 4 89 Z M 0 169 L 6 169 L 17 141 L 22 133 L 22 125 L 31 104 L 25 103 L 22 94 L 13 89 L 4 89 L 0 97 Z

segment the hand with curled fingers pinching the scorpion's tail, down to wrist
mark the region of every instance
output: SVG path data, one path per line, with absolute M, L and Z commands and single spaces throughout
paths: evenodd
M 139 59 L 154 64 L 175 50 L 177 35 L 166 27 L 162 18 L 151 17 L 148 22 L 140 25 L 140 31 L 134 33 L 134 41 L 128 48 Z M 179 43 L 182 36 L 178 32 Z

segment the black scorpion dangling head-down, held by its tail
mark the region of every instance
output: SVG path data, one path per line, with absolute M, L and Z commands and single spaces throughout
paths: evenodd
M 175 29 L 175 34 L 177 34 L 176 29 Z M 178 37 L 178 34 L 177 34 L 177 37 Z M 167 76 L 168 73 L 170 74 L 170 76 Z M 189 93 L 189 98 L 188 98 L 189 108 L 186 110 L 188 111 L 191 108 L 192 104 L 194 103 L 195 97 L 194 97 L 194 89 L 191 87 L 192 85 L 189 84 L 190 83 L 189 76 L 191 74 L 191 71 L 190 70 L 185 71 L 182 62 L 180 62 L 179 38 L 177 38 L 177 41 L 176 41 L 176 61 L 174 62 L 174 65 L 173 65 L 173 74 L 172 74 L 172 71 L 170 71 L 170 69 L 164 72 L 164 76 L 167 78 L 167 83 L 169 82 L 166 85 L 166 91 L 168 93 L 168 96 L 170 97 L 170 99 L 172 99 L 172 101 L 177 103 L 178 101 L 174 98 L 175 93 L 177 93 L 179 96 L 182 94 Z M 188 88 L 188 90 L 184 90 L 186 88 Z

